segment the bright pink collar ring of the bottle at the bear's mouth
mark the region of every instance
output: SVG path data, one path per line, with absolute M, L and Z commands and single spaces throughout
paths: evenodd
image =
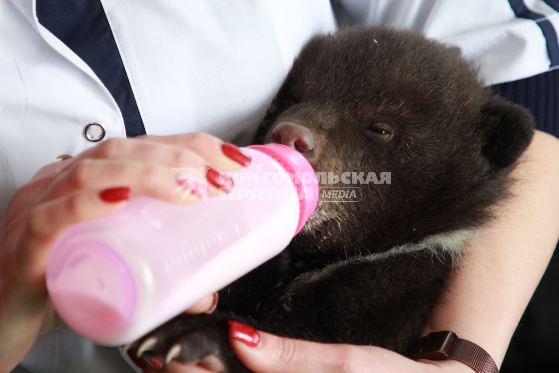
M 281 164 L 290 174 L 299 196 L 299 224 L 294 236 L 310 218 L 318 204 L 318 182 L 314 169 L 304 155 L 283 144 L 250 145 L 250 149 L 258 150 Z

